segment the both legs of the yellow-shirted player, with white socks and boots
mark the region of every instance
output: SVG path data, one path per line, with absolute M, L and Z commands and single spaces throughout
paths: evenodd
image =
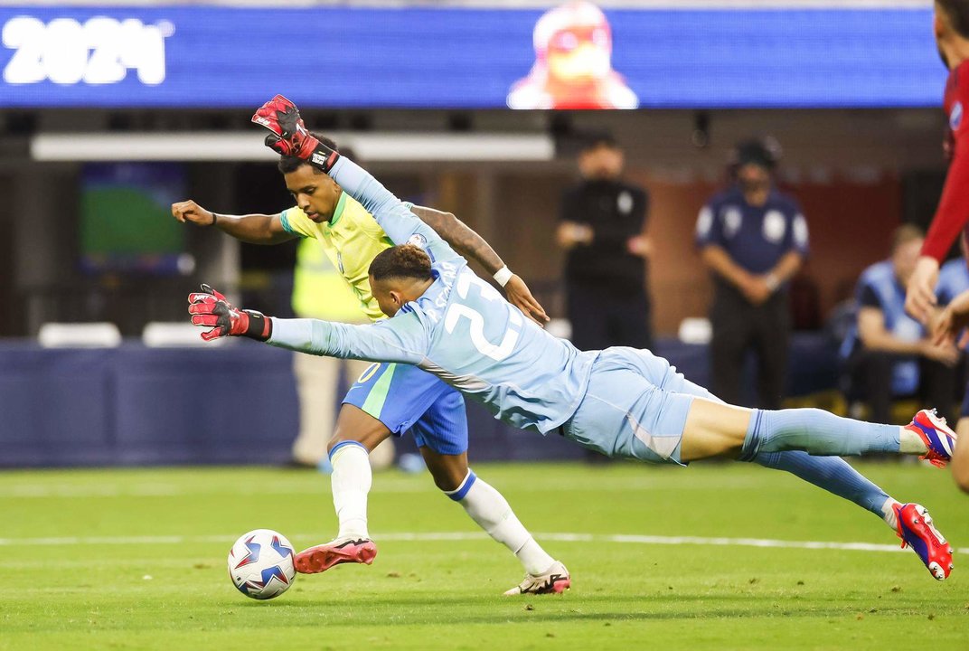
M 328 446 L 339 532 L 332 541 L 299 552 L 297 572 L 321 573 L 341 563 L 373 563 L 377 546 L 367 529 L 367 494 L 372 482 L 367 455 L 390 435 L 387 425 L 359 408 L 343 405 L 340 409 Z M 525 579 L 505 594 L 562 592 L 569 587 L 565 566 L 535 542 L 501 493 L 471 472 L 467 453 L 438 454 L 426 447 L 421 451 L 435 484 L 521 562 Z

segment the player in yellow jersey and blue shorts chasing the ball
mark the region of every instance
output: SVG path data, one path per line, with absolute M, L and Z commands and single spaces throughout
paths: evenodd
M 332 140 L 317 137 L 335 149 Z M 324 247 L 361 308 L 373 321 L 384 314 L 370 291 L 368 269 L 380 252 L 394 244 L 373 216 L 343 192 L 328 174 L 296 157 L 279 161 L 286 187 L 297 205 L 274 215 L 224 215 L 193 201 L 172 204 L 180 222 L 215 227 L 254 244 L 278 244 L 295 237 L 314 237 Z M 513 274 L 485 240 L 452 214 L 413 206 L 412 211 L 454 250 L 481 263 L 505 288 L 508 299 L 540 324 L 545 310 L 524 281 Z M 571 578 L 532 538 L 505 498 L 468 467 L 468 430 L 464 400 L 435 376 L 404 364 L 373 364 L 350 388 L 329 442 L 333 466 L 333 507 L 339 520 L 336 538 L 297 555 L 301 573 L 319 573 L 339 563 L 370 564 L 376 545 L 367 531 L 366 503 L 371 485 L 367 455 L 387 437 L 410 430 L 434 483 L 459 503 L 494 540 L 521 562 L 525 577 L 506 595 L 560 592 Z

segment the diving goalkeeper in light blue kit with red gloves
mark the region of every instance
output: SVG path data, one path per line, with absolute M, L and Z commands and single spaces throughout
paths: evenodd
M 193 324 L 313 355 L 414 364 L 495 418 L 611 457 L 685 465 L 720 456 L 786 470 L 874 512 L 935 578 L 949 576 L 953 550 L 928 512 L 892 499 L 838 458 L 888 452 L 945 465 L 955 435 L 932 412 L 899 427 L 816 409 L 750 410 L 723 403 L 649 351 L 580 352 L 524 318 L 352 161 L 302 133 L 276 132 L 266 142 L 328 173 L 394 241 L 410 242 L 370 266 L 373 294 L 392 318 L 374 325 L 275 319 L 205 291 L 189 296 Z M 469 471 L 461 488 L 474 481 Z

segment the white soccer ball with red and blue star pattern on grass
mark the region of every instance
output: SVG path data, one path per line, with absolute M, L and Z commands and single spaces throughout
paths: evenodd
M 272 599 L 293 585 L 293 545 L 271 529 L 242 534 L 229 550 L 229 577 L 246 597 Z

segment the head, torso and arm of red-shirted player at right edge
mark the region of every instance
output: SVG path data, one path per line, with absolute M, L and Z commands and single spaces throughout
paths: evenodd
M 943 102 L 949 117 L 944 147 L 951 164 L 905 296 L 906 311 L 922 322 L 928 320 L 936 302 L 939 264 L 969 225 L 969 140 L 965 139 L 969 124 L 964 119 L 969 108 L 969 65 L 963 65 L 969 59 L 969 0 L 936 0 L 933 22 L 939 54 L 951 71 Z

